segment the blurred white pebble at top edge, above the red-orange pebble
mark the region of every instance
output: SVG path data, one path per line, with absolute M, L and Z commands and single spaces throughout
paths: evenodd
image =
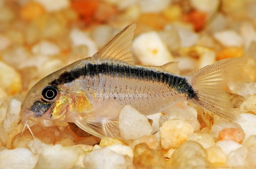
M 219 3 L 219 0 L 190 0 L 191 6 L 199 11 L 204 11 L 207 13 L 214 12 Z

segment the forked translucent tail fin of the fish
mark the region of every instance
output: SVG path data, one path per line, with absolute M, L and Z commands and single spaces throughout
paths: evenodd
M 243 122 L 243 118 L 232 108 L 224 88 L 227 82 L 247 63 L 246 57 L 223 59 L 212 65 L 203 67 L 187 74 L 197 98 L 191 101 L 217 114 L 218 116 L 235 122 Z

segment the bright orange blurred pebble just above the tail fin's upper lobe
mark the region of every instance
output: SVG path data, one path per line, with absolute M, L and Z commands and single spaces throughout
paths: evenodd
M 229 47 L 217 53 L 217 60 L 232 58 L 232 57 L 242 57 L 242 56 L 243 56 L 243 48 Z

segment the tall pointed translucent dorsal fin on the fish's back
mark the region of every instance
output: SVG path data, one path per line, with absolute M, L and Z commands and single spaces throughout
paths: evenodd
M 132 38 L 136 24 L 126 26 L 92 56 L 96 62 L 112 61 L 135 66 L 131 53 Z

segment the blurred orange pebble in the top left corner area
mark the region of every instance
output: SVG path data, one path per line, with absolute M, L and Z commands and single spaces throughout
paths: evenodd
M 20 18 L 25 20 L 33 20 L 43 13 L 45 13 L 45 9 L 41 4 L 29 1 L 20 9 Z

